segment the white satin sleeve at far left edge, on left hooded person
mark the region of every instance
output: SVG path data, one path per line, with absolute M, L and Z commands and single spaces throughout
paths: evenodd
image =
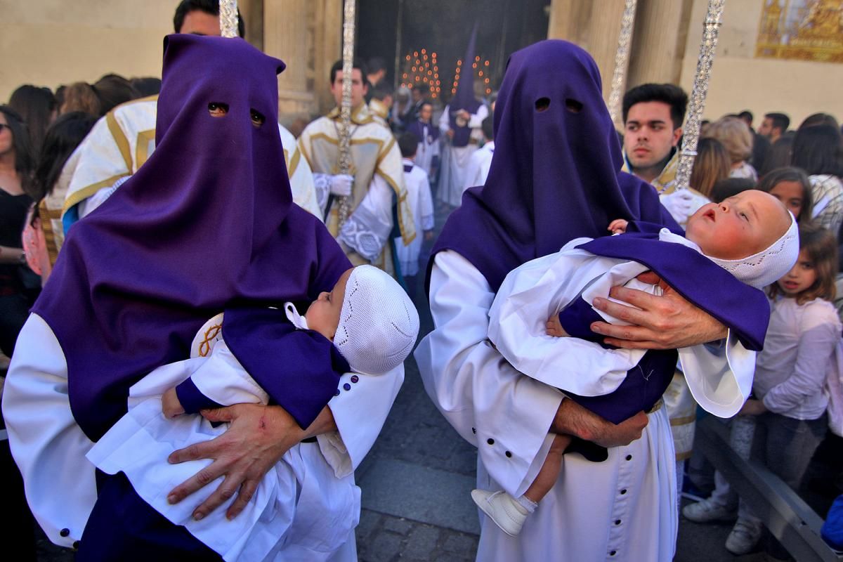
M 9 446 L 26 499 L 53 543 L 80 538 L 97 499 L 92 447 L 70 410 L 67 362 L 42 318 L 30 314 L 18 336 L 3 389 Z

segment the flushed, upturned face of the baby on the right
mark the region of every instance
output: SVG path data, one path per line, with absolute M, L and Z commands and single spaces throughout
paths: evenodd
M 688 219 L 685 236 L 700 246 L 703 254 L 740 260 L 776 242 L 790 222 L 787 209 L 776 197 L 748 190 L 722 203 L 702 206 Z

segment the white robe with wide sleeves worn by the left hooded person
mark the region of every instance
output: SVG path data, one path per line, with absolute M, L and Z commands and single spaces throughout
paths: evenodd
M 351 376 L 343 375 L 341 387 Z M 288 452 L 300 458 L 313 453 L 324 457 L 333 469 L 331 479 L 353 478 L 354 469 L 384 425 L 404 372 L 399 368 L 379 377 L 358 377 L 352 391 L 341 392 L 328 404 L 337 431 L 318 436 L 318 447 L 301 443 Z M 61 345 L 36 314 L 30 314 L 18 337 L 3 390 L 3 415 L 9 445 L 24 477 L 27 500 L 36 520 L 53 543 L 71 547 L 82 537 L 97 497 L 94 464 L 85 458 L 93 443 L 73 419 L 67 396 L 67 362 Z M 324 478 L 316 475 L 315 489 L 322 488 Z M 215 483 L 209 484 L 211 489 L 216 487 Z M 323 500 L 322 503 L 330 503 L 330 498 Z M 330 517 L 330 513 L 302 505 L 295 514 L 296 521 L 303 524 L 312 518 Z M 62 533 L 65 529 L 67 532 Z M 298 555 L 300 559 L 309 559 L 314 550 L 308 544 L 288 548 L 291 558 Z M 356 560 L 353 531 L 346 543 L 324 557 Z

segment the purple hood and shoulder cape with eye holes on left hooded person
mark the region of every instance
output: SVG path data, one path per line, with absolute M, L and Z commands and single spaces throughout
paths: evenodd
M 126 412 L 133 383 L 187 358 L 207 318 L 312 300 L 350 266 L 293 205 L 277 127 L 283 67 L 240 39 L 164 40 L 156 150 L 70 229 L 33 308 L 62 345 L 72 412 L 90 439 Z M 227 343 L 239 355 L 242 342 Z

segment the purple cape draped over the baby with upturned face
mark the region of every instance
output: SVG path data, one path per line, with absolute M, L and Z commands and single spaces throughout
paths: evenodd
M 764 347 L 770 322 L 770 304 L 764 292 L 738 281 L 694 249 L 663 242 L 652 232 L 595 238 L 577 248 L 647 265 L 686 300 L 733 329 L 748 350 Z

